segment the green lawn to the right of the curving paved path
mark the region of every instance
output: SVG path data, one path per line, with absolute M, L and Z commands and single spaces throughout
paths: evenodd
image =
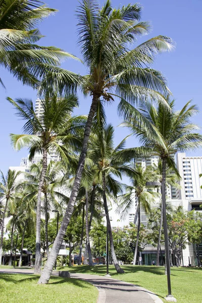
M 114 266 L 110 266 L 112 278 L 133 283 L 155 292 L 163 301 L 167 295 L 167 276 L 164 267 L 157 266 L 122 266 L 125 274 L 117 274 Z M 58 268 L 62 269 L 62 268 Z M 106 266 L 73 266 L 66 270 L 75 273 L 105 275 Z M 202 269 L 172 268 L 172 294 L 178 303 L 202 303 L 201 292 Z M 165 301 L 166 302 L 166 301 Z

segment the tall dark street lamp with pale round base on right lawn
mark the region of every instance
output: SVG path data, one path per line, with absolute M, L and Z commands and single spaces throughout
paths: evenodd
M 163 193 L 161 182 L 146 182 L 146 187 L 159 187 L 161 186 L 162 191 L 162 211 L 163 211 L 163 222 L 164 222 L 164 240 L 165 240 L 165 253 L 166 253 L 166 268 L 167 268 L 167 283 L 168 283 L 168 295 L 165 297 L 167 301 L 176 302 L 176 298 L 171 294 L 171 279 L 170 279 L 170 256 L 169 256 L 169 243 L 168 243 L 168 227 L 166 218 L 166 197 Z

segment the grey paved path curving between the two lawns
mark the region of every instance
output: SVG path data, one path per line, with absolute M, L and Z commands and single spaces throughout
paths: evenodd
M 0 269 L 0 273 L 33 274 L 32 269 Z M 58 275 L 58 272 L 53 272 Z M 110 277 L 70 273 L 71 278 L 82 279 L 99 290 L 97 303 L 163 303 L 154 293 L 142 287 Z

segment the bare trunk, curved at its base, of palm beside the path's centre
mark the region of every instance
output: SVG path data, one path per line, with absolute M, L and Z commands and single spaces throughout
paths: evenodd
M 112 235 L 112 227 L 111 227 L 111 224 L 110 224 L 109 211 L 108 211 L 108 205 L 107 205 L 107 197 L 106 197 L 105 173 L 103 173 L 103 200 L 104 200 L 104 208 L 105 208 L 105 214 L 106 214 L 107 224 L 108 224 L 108 232 L 109 232 L 109 238 L 110 238 L 110 248 L 111 248 L 112 260 L 114 262 L 114 266 L 116 268 L 116 271 L 119 274 L 123 274 L 124 270 L 118 264 L 117 257 L 116 257 L 116 254 L 115 254 L 115 249 L 114 249 L 114 240 L 113 240 L 113 235 Z

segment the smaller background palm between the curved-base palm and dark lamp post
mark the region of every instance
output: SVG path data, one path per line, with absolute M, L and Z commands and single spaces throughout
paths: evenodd
M 139 244 L 139 233 L 141 225 L 141 209 L 148 214 L 151 211 L 151 203 L 154 202 L 156 193 L 148 191 L 146 189 L 146 182 L 156 179 L 154 170 L 152 167 L 148 166 L 145 169 L 142 166 L 134 166 L 131 164 L 130 171 L 127 171 L 127 175 L 130 177 L 131 185 L 126 185 L 126 192 L 121 195 L 119 198 L 121 204 L 119 205 L 119 211 L 122 209 L 122 217 L 125 216 L 131 205 L 134 203 L 134 200 L 137 201 L 137 216 L 138 216 L 138 225 L 137 225 L 137 239 L 135 244 L 135 252 L 133 258 L 133 265 L 136 264 L 137 259 L 137 249 Z

